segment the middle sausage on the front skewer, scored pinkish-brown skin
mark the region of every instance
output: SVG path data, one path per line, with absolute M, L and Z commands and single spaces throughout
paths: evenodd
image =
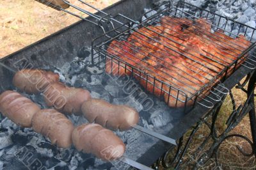
M 74 126 L 64 114 L 54 109 L 42 109 L 36 112 L 32 120 L 35 132 L 49 137 L 52 144 L 60 148 L 69 148 L 72 144 Z

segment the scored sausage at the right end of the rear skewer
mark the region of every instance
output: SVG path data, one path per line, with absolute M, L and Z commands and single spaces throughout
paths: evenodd
M 84 117 L 112 130 L 128 130 L 139 121 L 139 113 L 127 105 L 113 105 L 96 98 L 83 103 Z

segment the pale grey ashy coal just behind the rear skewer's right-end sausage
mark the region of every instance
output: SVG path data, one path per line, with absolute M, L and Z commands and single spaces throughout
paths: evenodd
M 117 105 L 129 105 L 136 109 L 136 111 L 140 112 L 143 109 L 143 106 L 135 100 L 131 95 L 124 98 L 114 98 L 113 104 Z

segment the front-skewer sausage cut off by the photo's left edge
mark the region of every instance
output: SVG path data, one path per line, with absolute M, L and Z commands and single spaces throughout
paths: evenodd
M 0 95 L 0 112 L 20 127 L 31 127 L 32 118 L 38 111 L 38 105 L 15 91 L 4 91 Z

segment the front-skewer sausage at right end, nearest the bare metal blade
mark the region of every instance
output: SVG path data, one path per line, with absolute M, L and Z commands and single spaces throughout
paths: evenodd
M 102 160 L 115 160 L 125 152 L 125 144 L 118 136 L 95 123 L 76 127 L 72 132 L 72 142 L 78 151 L 93 153 Z

